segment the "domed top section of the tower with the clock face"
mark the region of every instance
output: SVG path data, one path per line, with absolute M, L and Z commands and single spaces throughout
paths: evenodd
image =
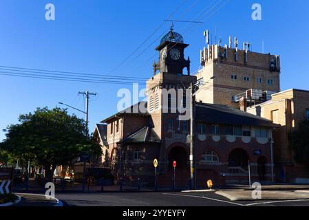
M 183 74 L 183 69 L 187 67 L 187 74 L 190 75 L 190 58 L 184 58 L 184 49 L 188 47 L 184 43 L 182 36 L 171 30 L 163 36 L 160 45 L 156 47 L 159 52 L 158 63 L 153 64 L 153 76 L 157 71 L 160 73 Z

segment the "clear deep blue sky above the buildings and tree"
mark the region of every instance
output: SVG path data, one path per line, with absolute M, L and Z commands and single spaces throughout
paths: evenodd
M 224 5 L 226 1 L 1 0 L 0 66 L 150 78 L 152 63 L 158 59 L 153 49 L 160 43 L 153 41 L 169 31 L 170 23 L 162 22 L 175 11 L 171 19 L 206 20 L 191 24 L 191 29 L 187 23 L 175 23 L 175 31 L 190 44 L 186 55 L 193 71 L 199 67 L 203 32 L 209 29 L 213 42 L 216 32 L 224 44 L 229 35 L 237 36 L 240 45 L 251 41 L 256 52 L 262 52 L 264 41 L 265 52 L 281 55 L 281 89 L 309 90 L 309 1 L 231 0 Z M 55 21 L 45 20 L 47 3 L 55 5 Z M 262 5 L 262 21 L 251 19 L 253 3 Z M 112 72 L 157 28 L 134 56 Z M 116 94 L 124 87 L 131 88 L 0 75 L 0 129 L 17 123 L 19 114 L 36 107 L 52 108 L 65 102 L 83 109 L 78 91 L 89 90 L 98 93 L 89 106 L 93 131 L 96 122 L 116 112 Z M 69 112 L 83 117 L 83 113 Z M 0 141 L 4 137 L 1 131 Z

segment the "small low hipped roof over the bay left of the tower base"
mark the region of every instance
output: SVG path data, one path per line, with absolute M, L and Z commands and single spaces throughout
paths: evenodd
M 160 137 L 156 134 L 153 128 L 149 126 L 145 126 L 142 129 L 136 131 L 135 133 L 125 137 L 121 142 L 129 142 L 129 143 L 160 143 Z

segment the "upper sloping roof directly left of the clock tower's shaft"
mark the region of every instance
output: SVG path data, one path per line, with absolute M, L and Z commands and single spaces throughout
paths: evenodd
M 141 109 L 140 107 L 145 107 L 145 109 Z M 147 112 L 147 102 L 138 102 L 127 109 L 123 109 L 118 113 L 111 115 L 109 118 L 105 118 L 102 120 L 101 123 L 107 123 L 109 120 L 119 117 L 120 115 L 142 115 L 148 116 L 149 113 Z

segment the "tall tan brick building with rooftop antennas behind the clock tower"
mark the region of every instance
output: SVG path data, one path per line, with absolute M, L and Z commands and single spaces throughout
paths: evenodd
M 206 36 L 207 38 L 207 36 Z M 270 98 L 280 91 L 280 57 L 251 51 L 250 43 L 238 47 L 235 38 L 229 45 L 209 45 L 200 52 L 201 68 L 196 74 L 204 85 L 198 92 L 198 101 L 225 104 L 239 108 L 239 99 L 245 96 L 248 105 Z

